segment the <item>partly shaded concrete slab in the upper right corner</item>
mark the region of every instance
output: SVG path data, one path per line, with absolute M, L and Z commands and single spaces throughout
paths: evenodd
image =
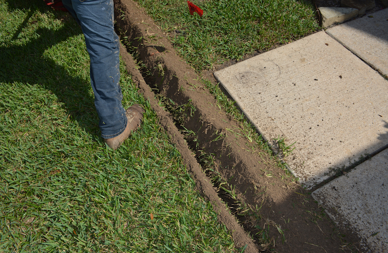
M 388 75 L 388 9 L 327 29 L 341 44 Z

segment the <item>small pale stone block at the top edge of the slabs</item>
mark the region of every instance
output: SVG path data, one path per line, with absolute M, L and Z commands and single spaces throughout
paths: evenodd
M 323 28 L 343 23 L 358 16 L 358 10 L 355 8 L 319 7 L 318 10 L 321 13 Z

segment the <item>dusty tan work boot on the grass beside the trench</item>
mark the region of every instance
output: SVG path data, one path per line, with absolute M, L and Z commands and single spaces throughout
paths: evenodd
M 128 119 L 126 123 L 126 127 L 124 132 L 122 132 L 120 135 L 110 138 L 110 139 L 104 139 L 106 144 L 113 150 L 116 150 L 121 143 L 128 138 L 133 131 L 135 131 L 139 126 L 143 119 L 143 113 L 144 109 L 136 104 L 131 106 L 130 108 L 126 109 L 125 116 Z

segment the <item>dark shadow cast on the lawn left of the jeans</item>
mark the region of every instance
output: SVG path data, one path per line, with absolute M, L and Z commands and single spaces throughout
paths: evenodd
M 35 39 L 16 45 L 13 42 L 23 36 L 23 30 L 35 25 L 34 14 L 44 14 L 52 10 L 41 0 L 28 3 L 7 0 L 7 4 L 10 13 L 23 11 L 27 15 L 12 36 L 12 43 L 0 46 L 0 82 L 9 83 L 9 89 L 12 89 L 13 83 L 16 82 L 40 85 L 57 96 L 70 118 L 76 120 L 81 128 L 93 135 L 99 135 L 99 119 L 94 106 L 94 96 L 90 92 L 89 74 L 80 73 L 85 72 L 85 69 L 89 71 L 89 66 L 67 68 L 45 56 L 45 51 L 52 46 L 82 34 L 74 19 L 68 13 L 55 11 L 55 18 L 63 24 L 60 29 L 38 28 L 34 31 L 38 35 Z M 77 66 L 76 59 L 74 63 Z

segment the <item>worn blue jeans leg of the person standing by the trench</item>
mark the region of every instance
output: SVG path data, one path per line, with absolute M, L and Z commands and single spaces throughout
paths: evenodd
M 121 105 L 120 42 L 113 27 L 113 0 L 62 0 L 62 3 L 85 37 L 101 136 L 116 137 L 124 131 L 127 118 Z

